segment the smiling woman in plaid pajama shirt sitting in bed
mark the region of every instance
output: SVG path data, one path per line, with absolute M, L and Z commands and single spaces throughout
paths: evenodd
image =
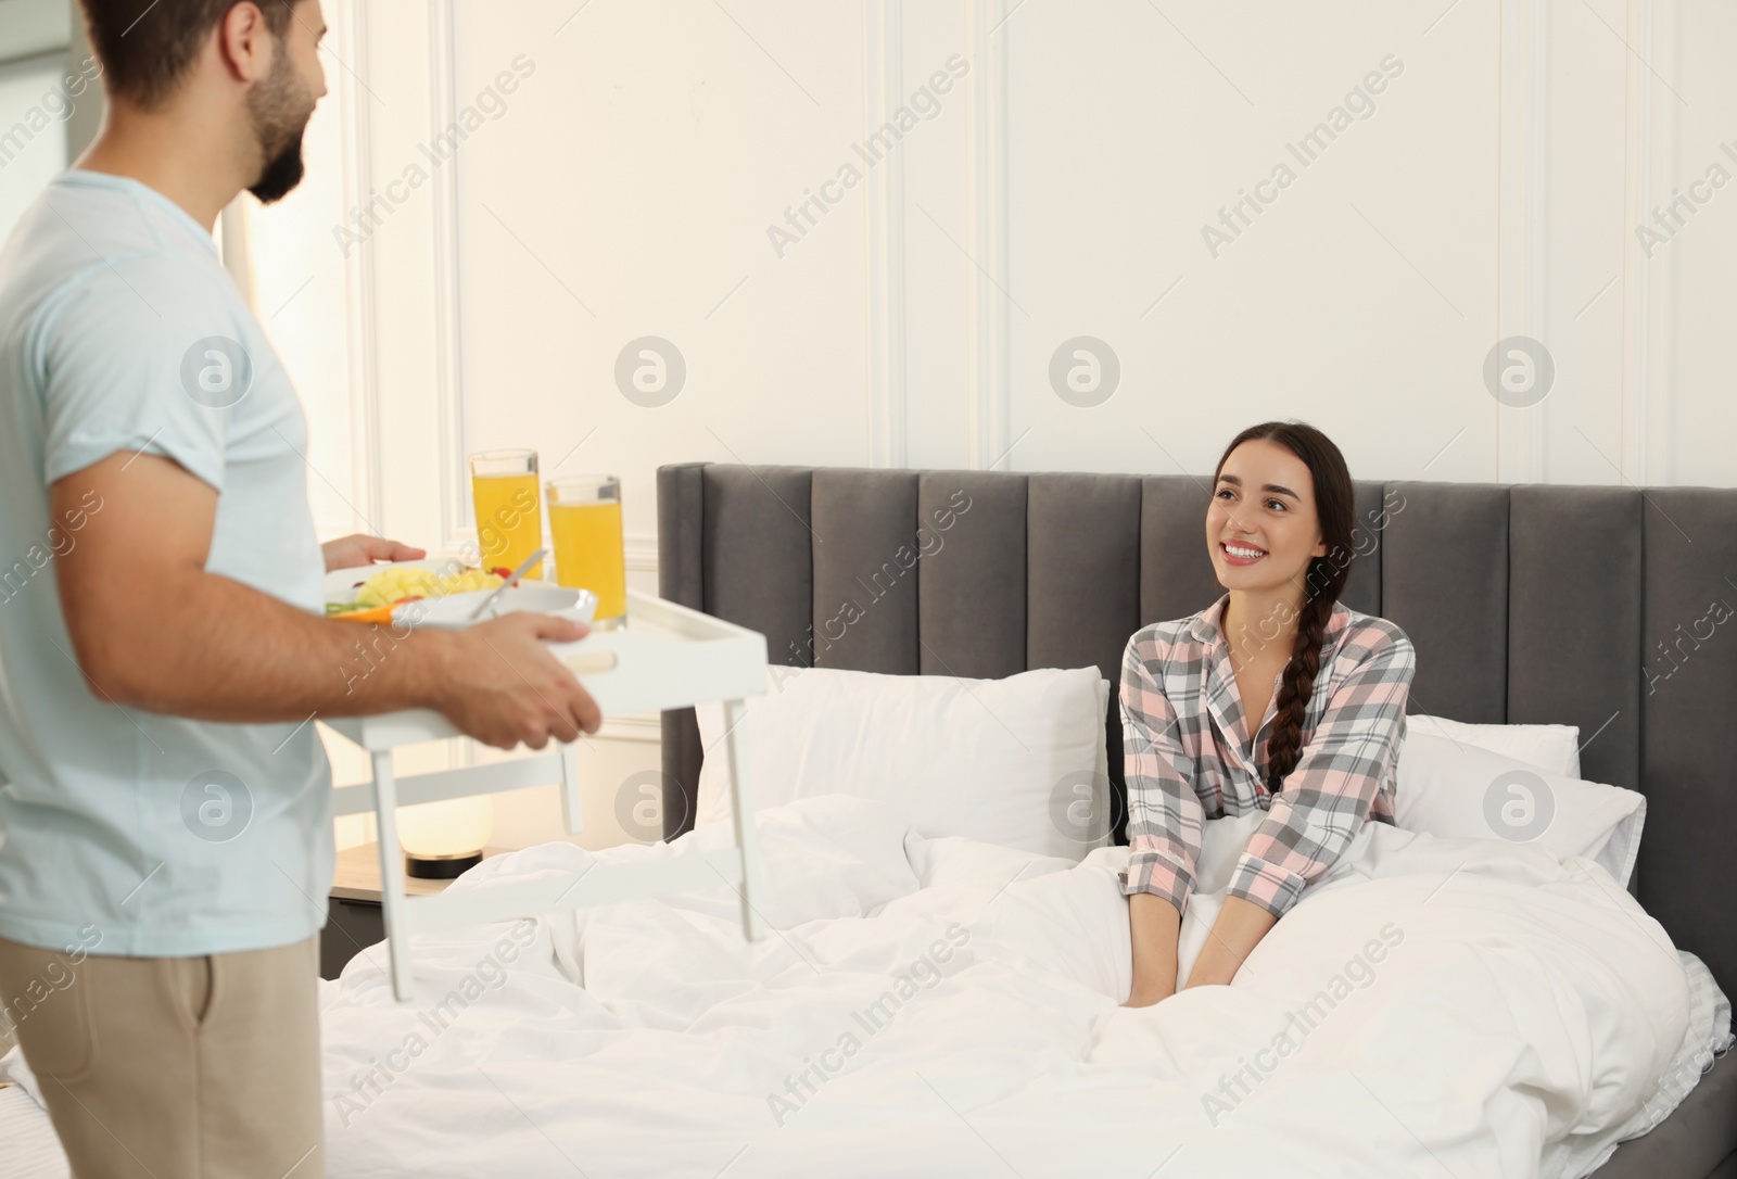
M 1339 603 L 1351 531 L 1351 476 L 1325 434 L 1245 429 L 1218 462 L 1205 514 L 1226 594 L 1127 641 L 1129 1007 L 1176 990 L 1204 820 L 1266 811 L 1188 986 L 1230 983 L 1365 821 L 1393 821 L 1412 644 Z M 1261 717 L 1252 734 L 1249 717 Z

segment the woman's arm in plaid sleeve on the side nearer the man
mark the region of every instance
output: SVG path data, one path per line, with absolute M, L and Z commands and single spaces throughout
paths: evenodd
M 1146 649 L 1150 646 L 1150 649 Z M 1176 731 L 1176 712 L 1148 662 L 1166 655 L 1157 636 L 1134 636 L 1122 656 L 1122 743 L 1127 778 L 1127 932 L 1133 943 L 1129 1007 L 1176 991 L 1176 939 L 1193 891 L 1204 811 L 1193 764 Z

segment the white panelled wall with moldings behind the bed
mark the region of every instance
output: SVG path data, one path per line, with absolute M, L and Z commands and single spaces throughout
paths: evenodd
M 545 472 L 624 478 L 650 589 L 658 464 L 1199 472 L 1265 417 L 1322 425 L 1360 478 L 1737 483 L 1737 188 L 1697 189 L 1650 257 L 1636 240 L 1711 165 L 1737 175 L 1737 16 L 1713 0 L 328 17 L 313 179 L 255 221 L 255 281 L 262 318 L 309 281 L 273 330 L 332 531 L 457 543 L 464 453 L 533 445 Z M 856 148 L 950 59 L 964 78 L 868 167 Z M 1303 167 L 1287 144 L 1384 61 L 1374 113 Z M 780 257 L 768 229 L 848 163 L 862 182 Z M 1294 182 L 1214 257 L 1202 227 L 1278 163 Z M 375 189 L 346 257 L 334 229 Z M 615 379 L 646 335 L 686 363 L 657 408 Z M 1122 373 L 1089 408 L 1049 375 L 1082 335 Z M 1530 408 L 1485 385 L 1511 335 L 1555 361 Z M 655 740 L 610 726 L 599 799 Z M 502 835 L 552 814 L 505 799 Z

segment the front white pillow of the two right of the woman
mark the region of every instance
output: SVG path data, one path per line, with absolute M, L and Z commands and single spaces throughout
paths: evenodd
M 1628 887 L 1647 821 L 1638 790 L 1556 774 L 1410 728 L 1397 771 L 1398 827 L 1452 839 L 1536 842 L 1586 856 Z

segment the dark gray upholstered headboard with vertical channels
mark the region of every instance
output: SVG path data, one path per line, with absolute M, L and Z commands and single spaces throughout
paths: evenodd
M 1641 903 L 1737 990 L 1737 490 L 1357 493 L 1344 601 L 1416 642 L 1410 710 L 1579 726 L 1582 774 L 1647 795 Z M 763 632 L 780 663 L 968 677 L 1096 663 L 1115 684 L 1134 630 L 1219 594 L 1205 502 L 1186 476 L 662 467 L 660 592 Z M 1112 700 L 1120 790 L 1113 717 Z M 700 757 L 693 710 L 665 714 L 670 839 L 691 827 Z

